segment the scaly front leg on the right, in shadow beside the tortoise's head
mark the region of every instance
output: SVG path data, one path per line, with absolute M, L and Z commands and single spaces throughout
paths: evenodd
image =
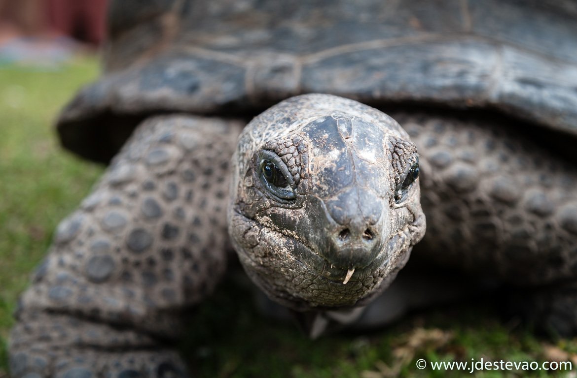
M 575 333 L 577 168 L 513 120 L 393 116 L 421 156 L 427 232 L 411 259 L 524 288 L 535 322 Z

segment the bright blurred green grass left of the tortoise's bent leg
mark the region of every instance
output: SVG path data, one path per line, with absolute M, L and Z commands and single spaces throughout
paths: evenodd
M 87 58 L 51 71 L 0 66 L 0 377 L 18 294 L 58 221 L 102 172 L 63 152 L 52 127 L 74 91 L 97 75 Z

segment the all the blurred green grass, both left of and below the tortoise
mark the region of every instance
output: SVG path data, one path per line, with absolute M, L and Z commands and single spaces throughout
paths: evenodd
M 95 58 L 57 70 L 0 67 L 0 378 L 18 294 L 44 255 L 59 220 L 89 192 L 103 168 L 59 148 L 51 124 L 82 84 L 98 75 Z M 200 377 L 577 377 L 577 342 L 535 338 L 503 323 L 488 303 L 418 313 L 378 332 L 310 341 L 293 324 L 254 310 L 243 289 L 225 284 L 190 319 L 182 350 Z M 572 371 L 433 371 L 427 361 L 571 361 Z

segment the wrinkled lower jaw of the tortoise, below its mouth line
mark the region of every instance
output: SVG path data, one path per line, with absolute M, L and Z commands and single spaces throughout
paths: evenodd
M 383 244 L 366 267 L 331 266 L 290 230 L 271 228 L 232 211 L 233 245 L 246 273 L 272 300 L 297 311 L 368 303 L 395 277 L 411 251 L 410 225 Z M 352 271 L 351 271 L 352 270 Z

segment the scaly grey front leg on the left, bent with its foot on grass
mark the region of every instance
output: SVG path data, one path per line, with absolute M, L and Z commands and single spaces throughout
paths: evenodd
M 14 378 L 187 376 L 174 347 L 186 308 L 226 266 L 228 165 L 241 124 L 145 121 L 21 297 Z

